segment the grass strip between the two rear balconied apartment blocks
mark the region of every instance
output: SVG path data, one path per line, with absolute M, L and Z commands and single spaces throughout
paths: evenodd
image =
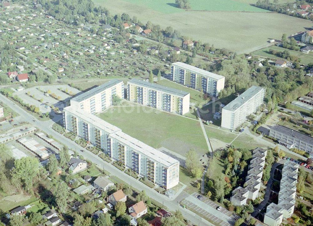
M 186 86 L 182 86 L 180 84 L 177 84 L 176 82 L 173 82 L 173 81 L 170 81 L 167 79 L 163 79 L 163 80 L 157 81 L 156 83 L 158 83 L 162 86 L 167 86 L 170 88 L 174 88 L 177 90 L 182 90 L 182 91 L 190 93 L 190 102 L 192 102 L 194 104 L 200 103 L 201 105 L 203 105 L 209 101 L 209 100 L 205 100 L 205 99 L 201 98 L 201 92 L 194 90 L 194 89 L 191 89 L 191 88 L 188 88 Z

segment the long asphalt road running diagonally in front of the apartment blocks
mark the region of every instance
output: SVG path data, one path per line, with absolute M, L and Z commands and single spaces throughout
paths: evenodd
M 34 118 L 31 114 L 24 111 L 21 107 L 14 104 L 11 100 L 0 94 L 0 100 L 3 101 L 4 104 L 10 106 L 13 111 L 16 111 L 19 115 L 23 116 L 23 121 L 26 121 L 33 126 L 36 126 L 37 128 L 41 129 L 47 134 L 52 135 L 56 140 L 59 142 L 66 144 L 69 149 L 77 150 L 80 155 L 82 155 L 85 159 L 90 160 L 94 164 L 96 164 L 100 169 L 105 169 L 108 172 L 110 172 L 111 175 L 115 175 L 121 180 L 123 180 L 127 184 L 131 184 L 131 186 L 138 190 L 145 190 L 146 194 L 151 197 L 152 199 L 157 200 L 158 202 L 164 204 L 170 211 L 175 211 L 179 209 L 185 219 L 190 220 L 190 222 L 194 225 L 212 225 L 207 220 L 201 218 L 197 214 L 194 214 L 190 210 L 183 209 L 180 204 L 176 200 L 170 200 L 167 196 L 159 194 L 156 192 L 156 190 L 149 188 L 145 184 L 141 183 L 140 181 L 136 180 L 133 177 L 130 177 L 129 175 L 125 174 L 124 172 L 121 172 L 116 167 L 111 165 L 110 163 L 102 160 L 99 156 L 94 155 L 90 151 L 82 148 L 81 146 L 77 145 L 74 141 L 67 139 L 63 135 L 59 134 L 58 132 L 54 131 L 52 129 L 52 125 L 54 124 L 54 121 L 39 121 L 36 118 Z M 33 120 L 36 120 L 35 122 Z M 84 152 L 80 152 L 81 149 L 84 149 Z

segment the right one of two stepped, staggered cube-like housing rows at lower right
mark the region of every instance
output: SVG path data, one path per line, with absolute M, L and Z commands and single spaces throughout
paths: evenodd
M 280 225 L 283 218 L 290 218 L 295 209 L 296 183 L 298 179 L 299 165 L 292 161 L 286 161 L 282 169 L 278 204 L 271 203 L 266 208 L 264 224 Z

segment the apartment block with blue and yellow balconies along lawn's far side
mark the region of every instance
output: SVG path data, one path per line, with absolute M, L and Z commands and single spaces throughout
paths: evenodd
M 132 79 L 127 82 L 127 100 L 184 115 L 189 111 L 190 93 Z

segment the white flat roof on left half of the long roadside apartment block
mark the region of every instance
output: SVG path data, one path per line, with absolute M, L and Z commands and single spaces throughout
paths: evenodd
M 121 129 L 116 127 L 115 125 L 112 125 L 97 116 L 87 113 L 86 111 L 79 109 L 77 107 L 68 106 L 64 108 L 64 111 L 68 111 L 69 113 L 76 115 L 77 117 L 81 118 L 82 120 L 85 120 L 86 122 L 91 123 L 95 127 L 98 127 L 102 130 L 104 130 L 106 133 L 111 134 L 115 133 L 117 131 L 120 131 Z

